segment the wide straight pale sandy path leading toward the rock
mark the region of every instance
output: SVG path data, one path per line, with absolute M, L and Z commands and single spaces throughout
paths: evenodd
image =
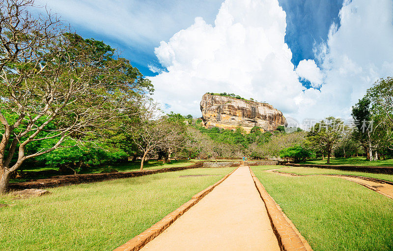
M 142 250 L 280 248 L 249 167 L 241 166 Z

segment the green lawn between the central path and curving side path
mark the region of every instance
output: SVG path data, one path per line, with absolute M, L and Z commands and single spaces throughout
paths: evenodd
M 393 250 L 392 199 L 340 178 L 252 169 L 314 251 Z

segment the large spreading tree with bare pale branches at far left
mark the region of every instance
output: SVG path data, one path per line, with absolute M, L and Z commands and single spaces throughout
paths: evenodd
M 0 2 L 0 193 L 32 157 L 95 137 L 113 118 L 139 113 L 151 90 L 138 69 L 103 42 L 32 17 L 30 0 Z M 29 144 L 53 144 L 28 153 Z

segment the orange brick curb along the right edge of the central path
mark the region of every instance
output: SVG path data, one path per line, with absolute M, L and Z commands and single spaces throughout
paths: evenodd
M 281 207 L 270 196 L 263 187 L 262 183 L 255 176 L 251 167 L 249 167 L 251 176 L 256 189 L 263 202 L 273 228 L 273 232 L 277 237 L 281 251 L 312 251 L 307 240 L 301 235 L 291 220 L 282 212 Z

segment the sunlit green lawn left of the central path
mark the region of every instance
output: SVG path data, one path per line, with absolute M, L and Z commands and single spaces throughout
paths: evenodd
M 113 250 L 213 185 L 229 168 L 196 168 L 49 189 L 29 199 L 0 196 L 1 251 Z M 180 175 L 210 174 L 186 177 Z

